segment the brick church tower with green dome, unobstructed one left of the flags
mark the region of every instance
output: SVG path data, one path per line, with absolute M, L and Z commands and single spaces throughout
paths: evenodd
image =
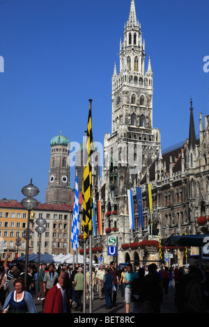
M 71 203 L 70 188 L 70 141 L 60 132 L 51 142 L 49 182 L 46 190 L 46 203 Z

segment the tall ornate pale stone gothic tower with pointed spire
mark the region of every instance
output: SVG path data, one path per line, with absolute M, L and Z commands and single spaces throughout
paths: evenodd
M 127 189 L 140 185 L 161 147 L 160 130 L 153 129 L 153 70 L 150 57 L 145 68 L 145 40 L 134 0 L 123 34 L 119 72 L 115 63 L 111 79 L 111 134 L 104 136 L 104 174 L 105 211 L 118 213 L 106 228 L 117 226 L 119 243 L 128 243 Z

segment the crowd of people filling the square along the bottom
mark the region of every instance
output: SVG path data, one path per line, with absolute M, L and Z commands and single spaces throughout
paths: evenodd
M 117 306 L 117 294 L 121 291 L 125 303 L 125 313 L 160 313 L 162 301 L 169 296 L 169 289 L 175 287 L 173 305 L 179 313 L 206 312 L 208 310 L 208 276 L 201 267 L 192 266 L 188 273 L 183 267 L 169 269 L 157 267 L 155 263 L 148 266 L 126 264 L 118 270 L 112 261 L 106 267 L 93 266 L 86 271 L 84 285 L 84 268 L 69 265 L 41 264 L 37 282 L 37 264 L 29 264 L 27 283 L 24 285 L 24 263 L 8 265 L 9 253 L 1 266 L 0 302 L 3 313 L 36 313 L 34 294 L 42 301 L 44 313 L 83 312 L 84 296 L 86 300 L 98 292 L 100 300 L 105 301 L 105 309 Z M 89 274 L 91 273 L 91 287 Z M 173 281 L 173 283 L 172 283 Z M 90 294 L 91 292 L 91 294 Z M 33 295 L 33 296 L 32 296 Z

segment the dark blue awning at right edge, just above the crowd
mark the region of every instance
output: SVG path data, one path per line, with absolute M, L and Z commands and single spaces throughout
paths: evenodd
M 209 242 L 209 234 L 178 235 L 161 240 L 162 246 L 205 246 Z

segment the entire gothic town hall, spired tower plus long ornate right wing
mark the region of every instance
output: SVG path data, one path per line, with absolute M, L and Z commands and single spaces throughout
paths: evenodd
M 102 203 L 103 234 L 93 238 L 93 246 L 102 246 L 108 264 L 115 258 L 108 255 L 107 237 L 117 237 L 118 262 L 141 264 L 159 260 L 159 237 L 209 232 L 209 115 L 203 122 L 200 113 L 196 138 L 192 99 L 188 101 L 187 141 L 162 153 L 160 129 L 153 128 L 153 70 L 150 58 L 145 67 L 145 42 L 134 0 L 123 35 L 119 71 L 115 64 L 111 79 L 111 134 L 104 136 L 102 180 L 95 189 L 95 200 Z M 142 191 L 144 228 L 138 223 L 136 186 Z M 128 189 L 134 196 L 135 230 L 129 227 Z M 170 264 L 185 263 L 185 248 L 169 250 Z M 93 254 L 93 260 L 100 255 Z

